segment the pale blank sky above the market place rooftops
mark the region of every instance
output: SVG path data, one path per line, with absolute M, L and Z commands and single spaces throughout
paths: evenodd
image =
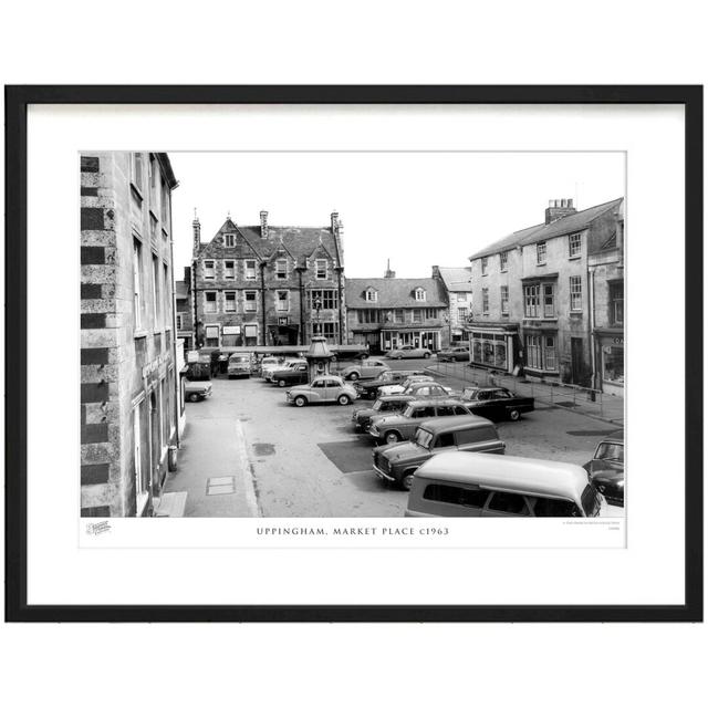
M 195 208 L 201 240 L 227 216 L 237 225 L 344 226 L 348 278 L 429 278 L 431 266 L 469 257 L 542 223 L 550 199 L 586 209 L 625 194 L 623 153 L 169 153 L 175 271 L 191 258 Z

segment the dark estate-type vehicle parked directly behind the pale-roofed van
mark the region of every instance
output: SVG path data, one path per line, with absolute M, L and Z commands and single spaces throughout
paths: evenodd
M 506 447 L 494 424 L 486 418 L 435 418 L 419 426 L 413 440 L 375 448 L 374 471 L 381 479 L 409 490 L 413 473 L 434 455 L 451 450 L 503 455 Z

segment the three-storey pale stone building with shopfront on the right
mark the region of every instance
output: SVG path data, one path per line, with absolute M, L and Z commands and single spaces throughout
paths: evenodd
M 597 388 L 605 346 L 607 373 L 618 376 L 615 340 L 623 337 L 610 322 L 622 316 L 623 206 L 615 199 L 577 211 L 572 199 L 551 200 L 543 223 L 470 257 L 475 364 Z M 611 300 L 620 308 L 612 317 Z

